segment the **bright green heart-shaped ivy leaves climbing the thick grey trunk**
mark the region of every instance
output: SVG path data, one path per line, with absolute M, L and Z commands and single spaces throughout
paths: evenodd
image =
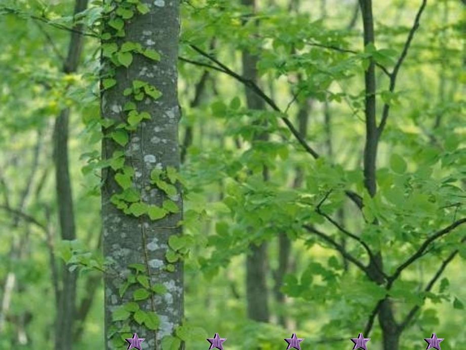
M 114 78 L 115 69 L 129 68 L 133 62 L 134 55 L 142 55 L 149 60 L 159 61 L 160 54 L 150 48 L 143 47 L 140 43 L 124 41 L 126 37 L 126 21 L 135 16 L 145 15 L 149 12 L 147 5 L 140 0 L 113 0 L 104 5 L 103 9 L 103 30 L 102 40 L 102 61 L 105 64 L 106 72 L 101 78 L 101 88 L 108 90 L 115 87 L 118 82 Z M 147 111 L 138 110 L 137 102 L 144 98 L 156 100 L 162 96 L 157 87 L 142 80 L 133 80 L 131 87 L 123 91 L 125 103 L 123 122 L 110 118 L 102 118 L 101 124 L 104 130 L 104 137 L 111 138 L 120 150 L 113 152 L 106 160 L 108 166 L 114 171 L 114 180 L 120 186 L 121 191 L 111 196 L 111 203 L 120 209 L 125 215 L 130 215 L 140 219 L 157 221 L 166 216 L 179 213 L 180 208 L 174 201 L 178 195 L 177 187 L 183 185 L 183 180 L 176 168 L 168 166 L 165 169 L 154 168 L 150 172 L 150 186 L 147 189 L 157 188 L 162 191 L 166 199 L 161 206 L 148 204 L 142 200 L 141 193 L 135 188 L 133 178 L 135 170 L 125 157 L 125 147 L 128 145 L 131 133 L 136 131 L 144 120 L 150 120 L 151 115 Z M 149 278 L 150 271 L 147 259 L 146 237 L 144 225 L 142 227 L 142 241 L 144 244 L 145 264 L 130 264 L 131 271 L 124 283 L 119 287 L 119 296 L 122 299 L 132 301 L 115 308 L 112 311 L 112 326 L 107 334 L 112 346 L 119 347 L 125 343 L 125 338 L 131 337 L 131 321 L 144 326 L 148 330 L 156 331 L 159 328 L 160 320 L 154 305 L 154 296 L 165 294 L 166 288 L 162 284 L 152 284 Z M 166 252 L 165 270 L 175 271 L 174 263 L 183 259 L 188 254 L 189 247 L 192 246 L 193 239 L 188 235 L 173 235 L 168 241 L 168 251 Z M 129 290 L 132 294 L 128 298 Z M 142 309 L 141 302 L 151 300 L 152 310 Z M 167 336 L 162 339 L 162 347 L 167 350 L 177 350 L 181 341 L 187 340 L 191 335 L 199 333 L 199 329 L 180 325 L 175 330 L 174 336 Z

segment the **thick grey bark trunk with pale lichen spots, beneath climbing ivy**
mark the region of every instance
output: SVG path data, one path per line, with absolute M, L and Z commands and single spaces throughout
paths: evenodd
M 128 132 L 129 143 L 124 143 L 124 147 L 108 136 L 118 129 L 114 126 L 104 129 L 107 137 L 103 138 L 102 158 L 109 159 L 113 152 L 124 151 L 125 165 L 134 171 L 130 182 L 131 188 L 140 195 L 139 203 L 143 206 L 160 207 L 168 196 L 159 186 L 151 184 L 151 171 L 156 168 L 165 171 L 167 167 L 178 169 L 180 163 L 178 147 L 180 109 L 177 97 L 179 0 L 170 2 L 145 0 L 142 3 L 147 5 L 148 12 L 140 14 L 135 10 L 134 17 L 124 21 L 125 38 L 113 37 L 104 43 L 116 41 L 119 47 L 124 42 L 138 43 L 143 50 L 157 51 L 160 54 L 160 61 L 133 52 L 132 63 L 126 68 L 121 65 L 115 67 L 110 60 L 103 59 L 105 73 L 114 72 L 112 79 L 116 80 L 116 84 L 102 92 L 101 111 L 104 118 L 125 123 L 128 112 L 123 112 L 123 108 L 127 102 L 133 102 L 138 113 L 145 111 L 150 114 L 150 119 L 142 120 L 136 130 Z M 109 16 L 114 16 L 114 13 Z M 107 18 L 104 30 L 114 34 L 115 30 L 108 25 L 109 23 L 111 22 Z M 134 98 L 134 94 L 124 96 L 124 90 L 131 88 L 136 80 L 160 90 L 161 97 L 154 99 L 145 95 L 141 101 L 138 101 Z M 118 169 L 117 173 L 121 175 L 122 170 Z M 150 220 L 147 213 L 139 217 L 133 213 L 124 214 L 111 202 L 113 194 L 122 192 L 119 183 L 115 181 L 114 170 L 104 169 L 102 178 L 105 182 L 102 188 L 103 251 L 105 258 L 111 261 L 104 277 L 105 348 L 107 350 L 123 348 L 118 342 L 122 334 L 113 335 L 113 333 L 121 326 L 128 325 L 129 333 L 136 332 L 139 338 L 145 338 L 142 343 L 143 348 L 160 349 L 162 338 L 173 334 L 183 318 L 183 265 L 178 261 L 174 266 L 169 266 L 166 260 L 169 237 L 181 232 L 181 227 L 178 225 L 182 219 L 182 198 L 179 188 L 177 194 L 170 195 L 179 212 L 167 214 L 161 219 Z M 148 289 L 154 285 L 163 285 L 166 288 L 164 295 L 150 293 L 148 298 L 136 300 L 145 314 L 160 321 L 159 326 L 151 327 L 145 322 L 138 324 L 134 321 L 134 316 L 133 319 L 125 322 L 112 319 L 115 316 L 113 311 L 128 301 L 134 301 L 134 291 L 142 288 L 142 285 L 133 284 L 126 291 L 122 292 L 121 289 L 127 281 L 127 276 L 134 273 L 134 269 L 129 265 L 135 263 L 144 266 L 145 271 L 142 275 L 148 277 Z M 170 272 L 172 267 L 174 270 Z M 131 334 L 124 337 L 130 338 Z

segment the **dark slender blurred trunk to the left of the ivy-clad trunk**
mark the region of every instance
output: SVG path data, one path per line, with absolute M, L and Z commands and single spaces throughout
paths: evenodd
M 87 0 L 76 0 L 74 15 L 86 10 Z M 76 25 L 77 31 L 82 25 Z M 81 57 L 83 37 L 78 32 L 71 33 L 68 54 L 63 62 L 63 72 L 75 72 Z M 73 197 L 69 178 L 68 162 L 68 122 L 69 109 L 60 112 L 54 127 L 54 160 L 57 204 L 59 208 L 59 222 L 61 238 L 63 240 L 76 239 Z M 56 317 L 55 350 L 70 350 L 73 344 L 73 321 L 76 303 L 76 272 L 69 271 L 67 266 L 62 268 L 62 287 L 59 294 Z

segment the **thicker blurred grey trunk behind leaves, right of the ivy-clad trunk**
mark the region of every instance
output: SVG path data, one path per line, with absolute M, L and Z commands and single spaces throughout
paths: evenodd
M 243 0 L 243 5 L 255 10 L 255 0 Z M 257 82 L 257 57 L 248 51 L 242 53 L 243 76 L 253 82 Z M 251 110 L 264 109 L 263 100 L 251 89 L 246 89 L 246 100 Z M 266 139 L 267 135 L 257 135 L 257 139 Z M 268 178 L 268 170 L 263 169 L 264 181 Z M 251 244 L 251 254 L 246 258 L 246 299 L 248 317 L 258 322 L 268 322 L 268 291 L 266 284 L 267 274 L 267 243 L 259 246 Z

